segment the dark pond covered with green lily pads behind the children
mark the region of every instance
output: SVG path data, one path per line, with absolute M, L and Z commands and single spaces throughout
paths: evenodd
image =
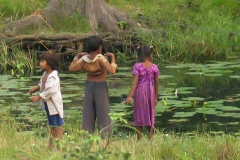
M 237 134 L 240 122 L 240 62 L 212 61 L 207 64 L 160 64 L 160 92 L 156 106 L 156 128 L 164 132 L 191 134 L 196 130 L 211 134 Z M 132 106 L 124 104 L 132 81 L 132 67 L 119 67 L 108 75 L 111 112 L 127 113 L 132 124 Z M 39 76 L 0 78 L 0 114 L 11 114 L 19 125 L 29 127 L 46 121 L 38 104 L 29 102 L 29 88 Z M 81 121 L 85 73 L 60 71 L 65 117 Z M 10 112 L 9 112 L 10 111 Z

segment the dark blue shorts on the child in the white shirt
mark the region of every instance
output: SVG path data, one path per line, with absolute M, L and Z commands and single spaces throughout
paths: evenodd
M 48 111 L 47 103 L 44 102 L 44 108 L 47 113 L 48 124 L 50 127 L 59 127 L 64 124 L 64 120 L 59 116 L 59 114 L 50 115 Z

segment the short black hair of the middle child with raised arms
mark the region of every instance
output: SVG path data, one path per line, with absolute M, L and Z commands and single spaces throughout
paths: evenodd
M 99 36 L 91 36 L 87 40 L 87 48 L 89 52 L 94 52 L 103 46 L 103 40 Z

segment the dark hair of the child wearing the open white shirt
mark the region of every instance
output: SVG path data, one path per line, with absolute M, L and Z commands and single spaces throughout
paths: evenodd
M 51 52 L 45 52 L 41 55 L 41 60 L 45 60 L 53 70 L 58 70 L 60 67 L 60 60 L 58 54 L 52 54 Z

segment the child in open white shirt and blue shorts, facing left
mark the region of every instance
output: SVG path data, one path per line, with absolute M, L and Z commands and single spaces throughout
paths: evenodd
M 54 148 L 54 139 L 62 139 L 63 130 L 63 102 L 60 91 L 60 80 L 57 69 L 59 68 L 59 57 L 49 52 L 41 55 L 40 69 L 44 71 L 37 87 L 29 90 L 32 95 L 40 90 L 40 94 L 31 98 L 32 102 L 41 99 L 40 105 L 45 108 L 50 126 L 49 149 Z

